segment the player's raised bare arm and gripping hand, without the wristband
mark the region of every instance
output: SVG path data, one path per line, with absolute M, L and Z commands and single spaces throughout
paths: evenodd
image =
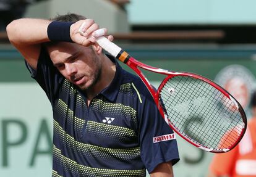
M 82 23 L 85 22 L 83 28 L 83 36 L 79 32 L 79 28 Z M 48 36 L 48 27 L 51 21 L 43 19 L 19 19 L 14 20 L 7 25 L 6 31 L 10 42 L 19 50 L 22 56 L 27 60 L 28 64 L 36 69 L 38 57 L 40 54 L 41 43 L 50 41 Z M 65 22 L 64 22 L 65 23 Z M 61 29 L 62 26 L 59 26 Z M 95 38 L 92 38 L 92 34 L 95 30 L 98 30 L 99 25 L 96 24 L 92 19 L 79 20 L 73 23 L 69 27 L 70 42 L 74 42 L 83 46 L 88 46 L 95 43 Z M 103 29 L 106 35 L 106 28 Z M 59 31 L 54 31 L 56 36 Z M 53 36 L 54 36 L 54 33 Z M 113 39 L 113 36 L 109 36 Z M 61 40 L 59 40 L 61 41 Z

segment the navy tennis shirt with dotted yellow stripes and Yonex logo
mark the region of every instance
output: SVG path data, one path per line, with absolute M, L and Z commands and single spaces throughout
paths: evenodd
M 87 106 L 86 94 L 53 66 L 41 49 L 32 77 L 53 107 L 52 176 L 146 176 L 162 162 L 179 161 L 176 139 L 153 142 L 173 134 L 161 118 L 147 88 L 116 62 L 109 86 Z

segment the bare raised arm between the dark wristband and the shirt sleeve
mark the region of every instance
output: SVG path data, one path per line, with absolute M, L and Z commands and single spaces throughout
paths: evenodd
M 36 69 L 41 43 L 48 42 L 47 28 L 51 21 L 43 19 L 19 19 L 7 25 L 10 42 L 19 50 L 28 64 Z

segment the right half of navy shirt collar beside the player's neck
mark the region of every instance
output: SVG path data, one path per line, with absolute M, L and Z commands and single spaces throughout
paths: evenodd
M 117 60 L 113 56 L 106 55 L 114 64 L 116 64 L 116 73 L 113 80 L 108 87 L 101 91 L 101 94 L 105 96 L 109 101 L 114 102 L 117 94 L 119 93 L 119 86 L 122 83 L 123 70 L 122 67 L 118 64 Z

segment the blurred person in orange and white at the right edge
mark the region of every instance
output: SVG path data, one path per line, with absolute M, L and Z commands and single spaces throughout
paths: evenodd
M 252 118 L 244 137 L 230 152 L 215 155 L 208 177 L 256 177 L 256 92 L 251 105 Z

